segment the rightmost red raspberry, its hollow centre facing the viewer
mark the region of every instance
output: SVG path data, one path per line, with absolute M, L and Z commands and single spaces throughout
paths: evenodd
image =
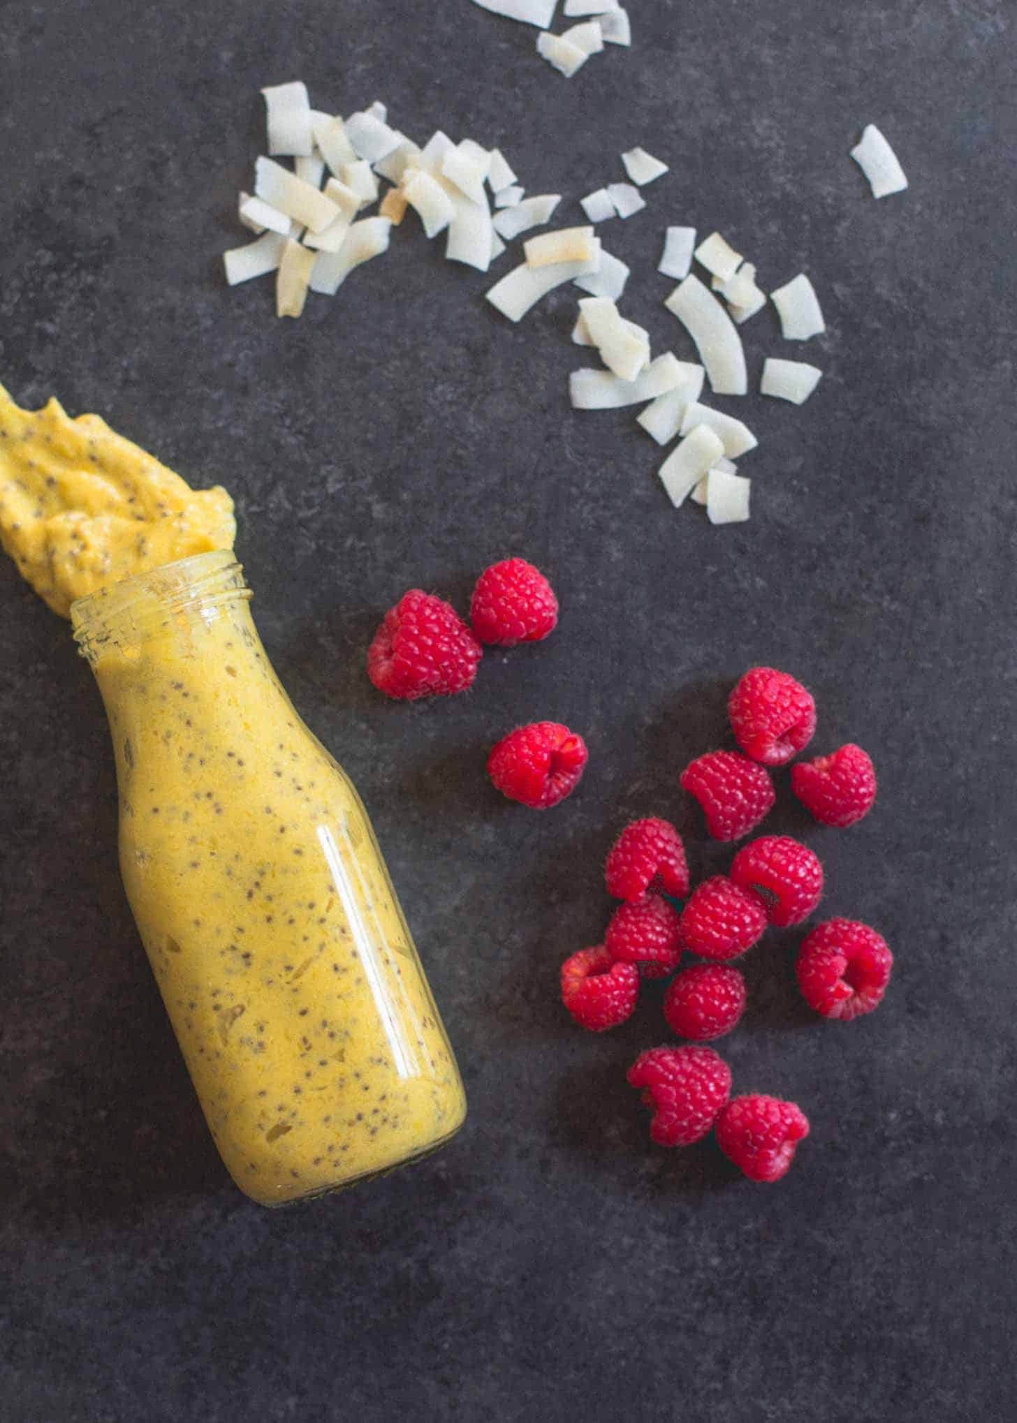
M 879 1007 L 892 969 L 886 939 L 855 919 L 818 924 L 802 941 L 795 965 L 809 1007 L 843 1023 Z

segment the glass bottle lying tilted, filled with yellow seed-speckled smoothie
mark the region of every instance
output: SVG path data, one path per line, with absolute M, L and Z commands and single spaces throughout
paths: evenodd
M 232 552 L 80 599 L 127 898 L 222 1160 L 264 1205 L 447 1141 L 466 1099 L 367 814 Z

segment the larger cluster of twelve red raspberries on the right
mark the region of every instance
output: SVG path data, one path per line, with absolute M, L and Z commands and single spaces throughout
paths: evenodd
M 772 667 L 746 672 L 728 703 L 739 751 L 711 751 L 685 768 L 681 784 L 701 804 L 709 834 L 741 840 L 775 801 L 766 767 L 785 766 L 816 726 L 812 696 Z M 826 825 L 852 825 L 876 798 L 876 776 L 859 746 L 792 767 L 792 790 Z M 685 848 L 667 820 L 632 821 L 607 857 L 615 909 L 604 942 L 573 953 L 561 968 L 561 998 L 577 1023 L 604 1032 L 635 1009 L 644 978 L 668 978 L 664 1017 L 699 1044 L 729 1033 L 745 1012 L 745 979 L 731 961 L 768 925 L 802 924 L 823 892 L 823 868 L 808 845 L 788 835 L 751 840 L 726 875 L 689 894 Z M 677 908 L 674 899 L 684 901 Z M 684 953 L 705 962 L 675 973 Z M 893 956 L 865 924 L 829 919 L 805 936 L 795 972 L 802 996 L 823 1017 L 849 1022 L 882 1000 Z M 731 1069 L 712 1047 L 652 1047 L 628 1081 L 654 1109 L 650 1134 L 659 1146 L 689 1146 L 712 1128 L 721 1150 L 753 1181 L 778 1181 L 809 1123 L 791 1101 L 731 1097 Z

